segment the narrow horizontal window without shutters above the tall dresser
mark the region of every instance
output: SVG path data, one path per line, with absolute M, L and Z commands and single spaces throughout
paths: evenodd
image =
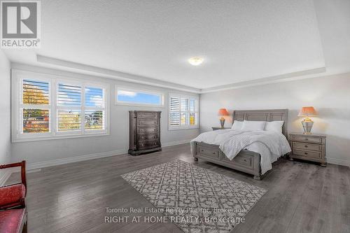
M 116 104 L 163 106 L 164 94 L 116 86 Z

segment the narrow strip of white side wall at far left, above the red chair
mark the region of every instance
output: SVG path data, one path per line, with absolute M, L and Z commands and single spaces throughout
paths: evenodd
M 10 162 L 10 62 L 0 50 L 0 164 Z M 6 170 L 0 170 L 0 185 Z

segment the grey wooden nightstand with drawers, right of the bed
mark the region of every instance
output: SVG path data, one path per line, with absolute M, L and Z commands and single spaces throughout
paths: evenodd
M 290 148 L 292 153 L 289 159 L 308 160 L 320 162 L 322 167 L 327 165 L 325 160 L 325 139 L 324 134 L 289 134 Z

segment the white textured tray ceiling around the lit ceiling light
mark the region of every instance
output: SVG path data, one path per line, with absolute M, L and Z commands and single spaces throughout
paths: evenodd
M 41 49 L 5 52 L 12 62 L 48 66 L 36 61 L 42 55 L 198 89 L 324 66 L 339 72 L 350 68 L 349 5 L 45 0 Z M 204 63 L 190 66 L 193 56 Z

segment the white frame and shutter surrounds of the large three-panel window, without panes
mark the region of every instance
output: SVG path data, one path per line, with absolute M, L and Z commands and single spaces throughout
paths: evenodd
M 40 80 L 49 83 L 49 105 L 47 106 L 49 110 L 49 132 L 48 133 L 33 133 L 33 134 L 23 134 L 22 133 L 22 116 L 20 111 L 24 106 L 22 104 L 22 80 Z M 79 85 L 81 86 L 81 106 L 58 106 L 57 105 L 57 90 L 58 83 L 66 85 Z M 99 87 L 104 89 L 104 129 L 96 130 L 94 132 L 87 132 L 84 129 L 85 125 L 85 87 Z M 20 69 L 11 69 L 11 141 L 12 142 L 22 142 L 22 141 L 43 141 L 51 139 L 71 139 L 80 138 L 87 136 L 104 136 L 109 135 L 109 84 L 102 82 L 94 82 L 90 80 L 85 80 L 82 78 L 70 78 L 66 76 L 56 76 L 49 73 L 36 73 L 33 71 L 25 71 Z M 29 106 L 30 104 L 25 104 Z M 42 105 L 44 106 L 44 105 Z M 42 108 L 41 105 L 35 105 L 33 108 Z M 58 131 L 58 111 L 71 108 L 72 110 L 80 109 L 81 124 L 80 130 L 73 130 L 71 132 L 59 132 Z

